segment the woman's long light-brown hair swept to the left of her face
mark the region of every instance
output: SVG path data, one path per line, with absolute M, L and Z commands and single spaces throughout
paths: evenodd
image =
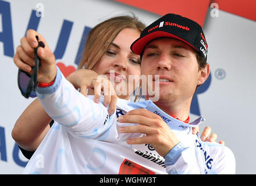
M 106 52 L 106 49 L 108 49 L 109 44 L 111 44 L 123 28 L 134 28 L 141 33 L 145 28 L 145 24 L 138 21 L 134 15 L 133 17 L 112 17 L 97 24 L 88 34 L 83 58 L 77 69 L 82 69 L 85 66 L 85 69 L 94 70 Z

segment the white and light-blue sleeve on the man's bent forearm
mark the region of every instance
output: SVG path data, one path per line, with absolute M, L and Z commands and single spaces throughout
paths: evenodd
M 182 142 L 175 145 L 164 157 L 168 174 L 201 174 L 194 152 Z

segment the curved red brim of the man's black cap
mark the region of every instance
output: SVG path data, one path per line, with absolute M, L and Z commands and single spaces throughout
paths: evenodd
M 178 37 L 177 35 L 166 33 L 165 31 L 154 31 L 150 34 L 145 35 L 144 37 L 138 38 L 136 41 L 133 42 L 133 44 L 131 44 L 131 51 L 133 51 L 134 53 L 136 53 L 138 55 L 141 55 L 141 52 L 143 52 L 143 49 L 145 48 L 145 45 L 148 44 L 148 42 L 150 42 L 156 38 L 161 38 L 161 37 L 170 37 L 170 38 L 175 38 L 176 40 L 183 41 L 186 44 L 193 47 L 196 51 L 198 51 L 198 49 L 196 49 L 189 42 L 183 40 L 182 38 Z

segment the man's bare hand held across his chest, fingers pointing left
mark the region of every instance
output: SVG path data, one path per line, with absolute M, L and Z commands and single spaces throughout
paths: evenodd
M 134 109 L 125 116 L 119 116 L 121 123 L 138 123 L 135 126 L 120 127 L 120 133 L 141 133 L 145 137 L 128 139 L 127 144 L 151 144 L 155 151 L 164 157 L 170 149 L 179 143 L 176 135 L 170 130 L 165 121 L 158 115 L 145 110 Z

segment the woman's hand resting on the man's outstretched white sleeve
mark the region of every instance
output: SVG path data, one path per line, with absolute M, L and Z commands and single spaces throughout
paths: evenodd
M 80 69 L 74 71 L 66 78 L 70 83 L 73 84 L 74 88 L 80 88 L 81 94 L 87 96 L 87 89 L 91 88 L 94 90 L 94 102 L 99 103 L 101 93 L 104 94 L 104 106 L 109 106 L 108 113 L 111 116 L 116 109 L 116 101 L 118 96 L 116 95 L 115 89 L 111 81 L 99 76 L 93 70 Z M 102 92 L 103 91 L 103 92 Z M 92 94 L 91 90 L 88 90 L 88 94 Z

